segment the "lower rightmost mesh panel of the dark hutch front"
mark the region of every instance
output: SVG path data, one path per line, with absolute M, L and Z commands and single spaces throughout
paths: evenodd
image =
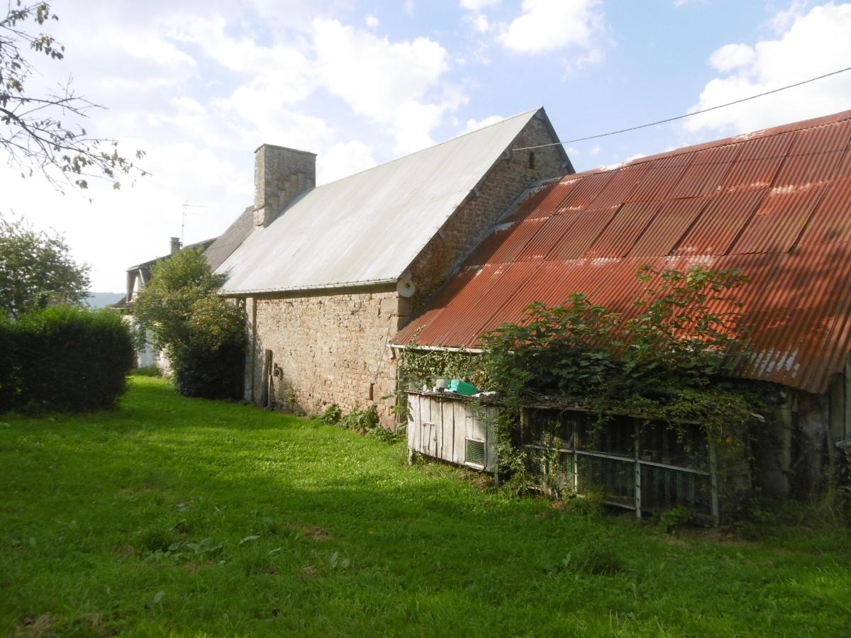
M 643 510 L 648 511 L 667 510 L 682 505 L 701 514 L 711 514 L 710 477 L 643 464 L 641 505 Z

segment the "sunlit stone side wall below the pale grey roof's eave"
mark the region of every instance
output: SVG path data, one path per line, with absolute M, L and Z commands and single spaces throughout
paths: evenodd
M 382 422 L 393 424 L 392 402 L 381 400 L 396 385 L 396 365 L 386 346 L 407 318 L 400 315 L 407 305 L 386 289 L 248 299 L 253 356 L 248 357 L 247 397 L 260 400 L 268 349 L 272 367 L 280 370 L 272 381 L 278 406 L 317 413 L 331 403 L 344 411 L 377 403 Z

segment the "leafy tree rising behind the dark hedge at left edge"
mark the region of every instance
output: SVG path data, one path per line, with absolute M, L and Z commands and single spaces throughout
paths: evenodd
M 0 316 L 20 319 L 50 304 L 78 304 L 88 288 L 89 266 L 71 259 L 65 237 L 0 216 Z

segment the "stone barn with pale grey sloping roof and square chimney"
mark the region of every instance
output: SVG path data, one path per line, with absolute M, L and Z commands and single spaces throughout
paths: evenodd
M 573 172 L 557 141 L 535 109 L 318 187 L 313 153 L 260 146 L 248 234 L 209 248 L 248 313 L 246 398 L 391 424 L 389 339 L 528 185 Z

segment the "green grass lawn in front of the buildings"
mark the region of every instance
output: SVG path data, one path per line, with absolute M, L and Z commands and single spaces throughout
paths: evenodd
M 0 416 L 0 634 L 851 635 L 839 527 L 670 536 L 404 459 L 161 379 Z

